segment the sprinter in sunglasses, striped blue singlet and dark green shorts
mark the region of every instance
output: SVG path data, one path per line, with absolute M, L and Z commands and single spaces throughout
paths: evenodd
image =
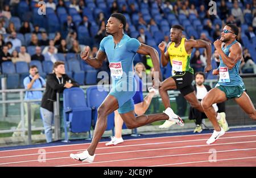
M 220 75 L 216 87 L 208 92 L 201 101 L 204 112 L 212 122 L 214 132 L 208 139 L 207 144 L 216 141 L 225 131 L 218 125 L 214 109 L 214 103 L 222 103 L 228 99 L 234 99 L 250 118 L 256 120 L 256 110 L 251 99 L 246 94 L 245 85 L 239 75 L 242 60 L 242 47 L 236 41 L 238 28 L 234 24 L 228 24 L 221 33 L 221 39 L 214 42 L 217 52 L 220 54 L 220 66 L 213 70 L 214 75 Z

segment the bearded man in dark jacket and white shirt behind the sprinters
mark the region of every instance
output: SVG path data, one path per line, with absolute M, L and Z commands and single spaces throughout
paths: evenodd
M 204 84 L 204 80 L 205 80 L 205 75 L 202 72 L 198 72 L 195 74 L 195 82 L 196 84 L 193 86 L 195 88 L 195 92 L 196 92 L 196 98 L 201 101 L 205 95 L 207 95 L 208 91 L 212 88 L 210 88 L 209 85 Z M 225 103 L 219 103 L 219 104 L 213 104 L 213 108 L 215 109 L 216 112 L 220 113 L 221 117 L 217 118 L 218 120 L 218 124 L 225 130 L 228 131 L 228 122 L 226 122 L 225 120 Z M 202 132 L 202 120 L 204 118 L 207 118 L 207 116 L 205 115 L 205 113 L 200 112 L 199 110 L 195 109 L 195 108 L 190 108 L 190 112 L 189 112 L 189 116 L 188 116 L 189 120 L 195 119 L 196 120 L 196 128 L 194 130 L 195 132 Z

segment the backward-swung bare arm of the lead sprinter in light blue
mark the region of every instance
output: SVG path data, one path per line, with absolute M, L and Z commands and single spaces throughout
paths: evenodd
M 137 50 L 137 53 L 143 54 L 143 55 L 149 55 L 151 57 L 155 72 L 159 72 L 159 80 L 161 81 L 162 77 L 161 77 L 161 71 L 160 71 L 158 51 L 155 48 L 152 48 L 151 46 L 141 43 L 141 46 Z

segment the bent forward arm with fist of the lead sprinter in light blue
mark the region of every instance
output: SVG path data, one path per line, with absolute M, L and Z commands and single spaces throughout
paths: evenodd
M 90 47 L 87 46 L 84 51 L 81 52 L 80 57 L 82 60 L 87 62 L 90 66 L 98 69 L 102 66 L 103 61 L 106 58 L 106 53 L 98 50 L 96 57 L 90 58 Z

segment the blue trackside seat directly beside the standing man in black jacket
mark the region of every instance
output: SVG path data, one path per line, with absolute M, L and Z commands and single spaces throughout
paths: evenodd
M 68 141 L 68 130 L 73 133 L 89 132 L 91 138 L 92 109 L 87 106 L 81 88 L 66 88 L 63 91 L 63 111 L 65 141 Z

